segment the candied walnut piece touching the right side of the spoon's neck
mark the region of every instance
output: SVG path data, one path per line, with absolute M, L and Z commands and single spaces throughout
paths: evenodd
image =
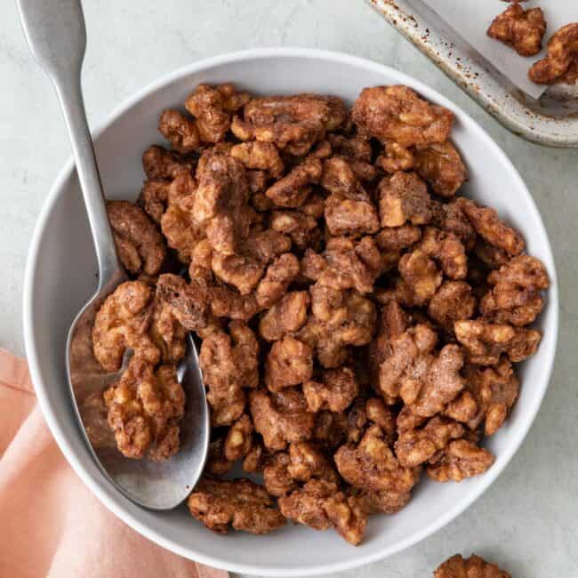
M 140 207 L 128 201 L 108 201 L 107 213 L 124 269 L 135 275 L 157 275 L 166 250 L 155 224 Z

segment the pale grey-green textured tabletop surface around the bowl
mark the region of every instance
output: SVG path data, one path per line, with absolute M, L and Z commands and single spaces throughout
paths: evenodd
M 83 4 L 90 39 L 84 89 L 92 124 L 143 84 L 193 60 L 292 45 L 349 52 L 418 76 L 465 108 L 502 145 L 542 211 L 558 265 L 561 330 L 550 390 L 524 445 L 470 510 L 412 549 L 341 576 L 427 576 L 454 552 L 472 550 L 518 578 L 578 575 L 578 313 L 572 297 L 578 285 L 578 151 L 542 149 L 507 132 L 362 0 Z M 28 242 L 70 150 L 52 87 L 28 53 L 14 3 L 2 5 L 0 347 L 23 355 L 20 301 Z

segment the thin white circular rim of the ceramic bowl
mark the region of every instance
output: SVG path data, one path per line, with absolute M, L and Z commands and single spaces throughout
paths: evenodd
M 177 68 L 172 72 L 169 72 L 163 76 L 157 78 L 157 80 L 147 84 L 139 91 L 134 92 L 130 97 L 121 102 L 116 108 L 112 110 L 110 114 L 106 116 L 104 121 L 96 125 L 92 130 L 92 138 L 94 140 L 100 137 L 100 134 L 108 129 L 110 124 L 113 124 L 116 119 L 123 115 L 128 109 L 132 108 L 140 100 L 147 97 L 152 92 L 156 92 L 163 89 L 166 85 L 171 84 L 173 81 L 178 80 L 181 76 L 188 76 L 195 72 L 213 68 L 221 64 L 235 63 L 242 60 L 262 60 L 271 58 L 306 58 L 306 59 L 317 59 L 317 60 L 332 60 L 335 62 L 341 62 L 342 64 L 348 64 L 350 66 L 355 66 L 357 68 L 365 68 L 373 72 L 390 75 L 402 78 L 402 82 L 412 86 L 417 92 L 425 94 L 428 99 L 436 100 L 441 103 L 442 106 L 451 108 L 453 110 L 459 111 L 459 114 L 467 119 L 470 123 L 474 124 L 478 129 L 482 138 L 486 141 L 485 145 L 494 148 L 494 152 L 498 157 L 501 157 L 502 163 L 507 167 L 507 169 L 512 173 L 513 178 L 518 181 L 518 187 L 521 191 L 524 191 L 526 197 L 529 201 L 529 209 L 531 213 L 534 213 L 535 220 L 539 223 L 541 233 L 546 239 L 546 246 L 544 247 L 545 254 L 549 258 L 551 267 L 550 273 L 550 293 L 549 301 L 550 308 L 552 308 L 553 316 L 553 338 L 550 342 L 550 350 L 547 352 L 547 360 L 545 371 L 542 371 L 544 376 L 542 387 L 540 391 L 536 392 L 536 395 L 532 398 L 532 405 L 526 408 L 526 419 L 523 422 L 521 428 L 518 429 L 518 433 L 515 438 L 510 439 L 510 445 L 506 450 L 498 456 L 494 466 L 488 470 L 484 476 L 484 484 L 481 484 L 475 491 L 472 491 L 467 499 L 459 502 L 453 508 L 446 510 L 444 516 L 433 521 L 428 526 L 421 528 L 420 532 L 416 532 L 413 535 L 407 537 L 405 540 L 397 542 L 396 546 L 386 548 L 377 552 L 368 553 L 365 555 L 352 556 L 347 562 L 339 562 L 335 564 L 325 564 L 320 566 L 293 566 L 291 568 L 279 567 L 279 566 L 258 566 L 258 565 L 247 565 L 247 564 L 230 564 L 227 561 L 223 561 L 220 558 L 214 558 L 213 556 L 205 555 L 201 551 L 197 551 L 194 548 L 182 548 L 179 544 L 173 542 L 170 539 L 165 538 L 162 534 L 159 534 L 157 530 L 151 529 L 140 522 L 138 518 L 135 518 L 132 514 L 125 511 L 124 508 L 116 503 L 116 501 L 109 497 L 106 493 L 100 490 L 99 485 L 92 478 L 92 476 L 84 469 L 82 461 L 76 456 L 74 450 L 69 446 L 68 440 L 60 429 L 59 423 L 55 415 L 52 413 L 49 398 L 44 393 L 47 389 L 47 384 L 44 382 L 41 371 L 38 351 L 36 349 L 36 341 L 34 337 L 33 329 L 33 298 L 34 298 L 34 287 L 35 287 L 35 272 L 36 272 L 36 261 L 38 260 L 40 241 L 44 234 L 44 229 L 47 226 L 47 220 L 49 215 L 52 213 L 52 208 L 55 205 L 59 195 L 60 189 L 64 183 L 68 180 L 71 173 L 74 170 L 74 159 L 70 157 L 64 167 L 60 170 L 56 181 L 52 185 L 52 189 L 49 192 L 48 197 L 44 201 L 41 212 L 39 213 L 38 219 L 36 221 L 36 226 L 34 233 L 29 245 L 28 258 L 26 263 L 26 270 L 24 276 L 24 289 L 23 289 L 23 328 L 24 328 L 24 343 L 25 350 L 28 358 L 29 372 L 36 390 L 36 398 L 38 404 L 44 414 L 44 419 L 48 424 L 49 429 L 52 432 L 52 436 L 55 438 L 57 445 L 60 447 L 60 451 L 64 454 L 68 463 L 72 469 L 76 472 L 76 475 L 81 478 L 85 486 L 92 491 L 99 501 L 104 504 L 104 506 L 124 521 L 125 524 L 132 527 L 132 529 L 139 532 L 141 535 L 145 536 L 152 542 L 156 542 L 160 546 L 164 547 L 166 550 L 171 550 L 174 553 L 190 560 L 200 562 L 208 566 L 214 566 L 228 570 L 230 572 L 242 573 L 242 574 L 266 574 L 269 576 L 309 576 L 316 574 L 330 574 L 333 572 L 341 572 L 344 570 L 350 570 L 356 568 L 357 566 L 363 566 L 365 564 L 370 564 L 372 562 L 378 561 L 382 558 L 387 558 L 397 552 L 405 550 L 414 544 L 421 542 L 424 538 L 428 537 L 430 534 L 436 533 L 439 529 L 446 526 L 454 518 L 457 518 L 464 510 L 467 510 L 470 505 L 475 502 L 478 497 L 483 494 L 486 489 L 492 485 L 494 480 L 502 473 L 502 470 L 510 462 L 512 456 L 518 451 L 524 438 L 526 438 L 527 432 L 534 423 L 534 419 L 542 405 L 543 397 L 545 396 L 546 390 L 550 384 L 550 378 L 552 373 L 552 368 L 554 364 L 554 359 L 556 357 L 556 349 L 558 343 L 558 314 L 559 314 L 559 304 L 558 304 L 558 280 L 556 273 L 556 265 L 554 257 L 551 250 L 550 238 L 544 227 L 542 216 L 535 205 L 534 198 L 530 194 L 526 187 L 526 183 L 522 180 L 522 177 L 518 173 L 518 170 L 510 162 L 509 157 L 506 156 L 500 145 L 486 132 L 486 130 L 478 124 L 478 122 L 473 119 L 468 113 L 466 113 L 461 107 L 455 104 L 452 100 L 447 99 L 440 92 L 434 88 L 430 88 L 427 84 L 422 83 L 420 80 L 413 78 L 403 72 L 400 72 L 396 68 L 392 68 L 386 65 L 379 64 L 372 60 L 365 58 L 353 56 L 344 52 L 334 52 L 322 49 L 313 48 L 257 48 L 250 50 L 243 50 L 237 52 L 229 52 L 203 60 L 197 60 L 189 65 L 185 65 L 181 68 Z M 63 354 L 64 355 L 64 354 Z

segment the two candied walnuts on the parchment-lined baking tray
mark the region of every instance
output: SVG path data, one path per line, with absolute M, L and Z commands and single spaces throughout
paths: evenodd
M 525 10 L 524 0 L 509 0 L 510 6 L 498 14 L 487 36 L 511 46 L 520 56 L 535 56 L 542 50 L 546 19 L 542 8 Z M 559 28 L 548 41 L 547 54 L 534 62 L 528 76 L 535 84 L 566 83 L 578 80 L 578 23 Z

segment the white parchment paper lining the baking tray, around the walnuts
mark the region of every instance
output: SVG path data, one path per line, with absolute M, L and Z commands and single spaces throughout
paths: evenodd
M 531 0 L 524 2 L 524 8 L 540 7 L 548 28 L 542 43 L 542 52 L 536 56 L 520 56 L 510 46 L 486 36 L 486 30 L 494 18 L 507 7 L 502 0 L 422 0 L 429 8 L 465 38 L 487 60 L 492 62 L 504 75 L 521 90 L 534 98 L 540 97 L 547 88 L 531 82 L 528 69 L 536 60 L 546 55 L 546 44 L 558 28 L 578 22 L 578 1 L 576 0 Z

